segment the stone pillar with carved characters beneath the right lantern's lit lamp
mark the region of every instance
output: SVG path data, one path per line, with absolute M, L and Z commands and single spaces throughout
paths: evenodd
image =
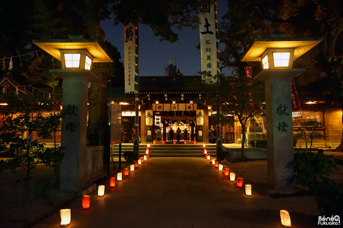
M 305 69 L 265 69 L 254 80 L 265 82 L 268 185 L 294 188 L 291 78 Z

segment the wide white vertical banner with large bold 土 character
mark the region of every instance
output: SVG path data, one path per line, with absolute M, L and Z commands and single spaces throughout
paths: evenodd
M 201 53 L 201 71 L 208 71 L 211 75 L 216 75 L 217 67 L 217 29 L 216 29 L 216 14 L 214 5 L 208 5 L 207 10 L 203 14 L 199 14 L 201 25 L 200 27 L 200 53 Z M 207 82 L 211 82 L 211 77 L 207 78 Z

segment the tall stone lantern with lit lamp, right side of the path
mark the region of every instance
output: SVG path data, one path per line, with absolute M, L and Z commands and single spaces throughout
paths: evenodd
M 289 38 L 277 34 L 256 38 L 241 61 L 261 62 L 263 70 L 253 80 L 265 83 L 268 184 L 274 190 L 294 187 L 291 79 L 305 69 L 293 61 L 316 46 L 319 38 Z

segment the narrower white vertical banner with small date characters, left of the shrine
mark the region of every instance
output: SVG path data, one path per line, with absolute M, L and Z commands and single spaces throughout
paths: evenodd
M 124 71 L 125 71 L 125 93 L 134 92 L 134 76 L 136 75 L 136 44 L 135 29 L 131 23 L 124 26 Z

